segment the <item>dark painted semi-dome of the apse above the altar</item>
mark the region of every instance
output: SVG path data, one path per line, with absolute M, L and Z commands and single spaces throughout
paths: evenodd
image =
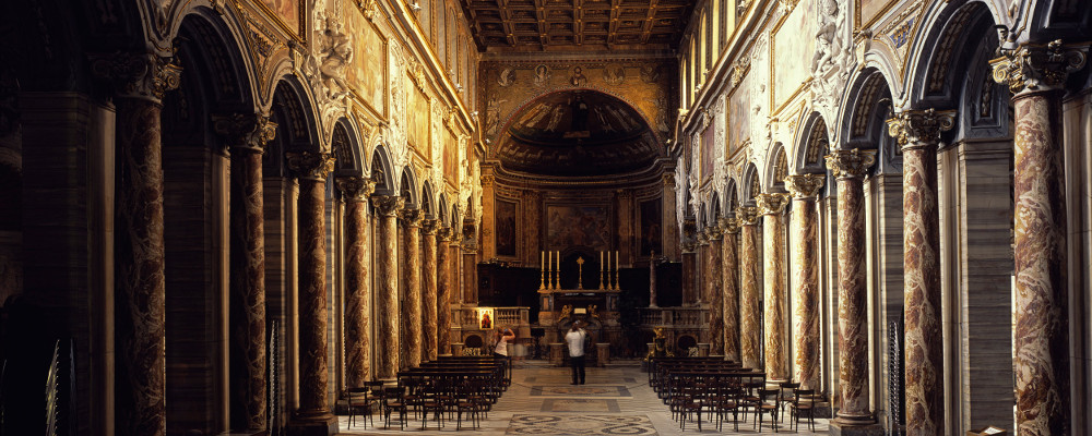
M 545 175 L 640 171 L 658 156 L 655 135 L 633 107 L 587 89 L 531 101 L 512 117 L 497 149 L 505 169 Z

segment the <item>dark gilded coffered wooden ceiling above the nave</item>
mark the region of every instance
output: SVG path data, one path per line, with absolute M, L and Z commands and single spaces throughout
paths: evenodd
M 691 0 L 460 0 L 486 51 L 669 50 Z

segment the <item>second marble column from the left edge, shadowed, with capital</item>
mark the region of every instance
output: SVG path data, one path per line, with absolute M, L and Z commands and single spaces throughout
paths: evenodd
M 265 229 L 262 154 L 276 135 L 268 117 L 214 116 L 232 154 L 230 373 L 232 427 L 265 429 Z

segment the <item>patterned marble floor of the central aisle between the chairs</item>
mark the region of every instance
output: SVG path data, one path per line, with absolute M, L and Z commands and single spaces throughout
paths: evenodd
M 612 366 L 587 368 L 586 384 L 569 385 L 567 367 L 549 367 L 538 362 L 518 365 L 512 372 L 512 386 L 494 404 L 489 419 L 482 420 L 482 427 L 464 427 L 459 433 L 499 435 L 627 435 L 627 436 L 681 436 L 693 434 L 721 434 L 710 421 L 702 424 L 702 431 L 692 423 L 686 432 L 679 429 L 672 420 L 670 412 L 655 392 L 648 386 L 648 376 L 637 366 Z M 450 422 L 442 429 L 431 427 L 420 431 L 420 421 L 411 420 L 405 432 L 395 424 L 392 429 L 383 428 L 376 416 L 378 428 L 364 428 L 359 421 L 347 429 L 348 420 L 340 416 L 342 435 L 394 435 L 412 433 L 416 435 L 451 435 L 455 423 Z M 393 423 L 392 423 L 393 424 Z M 774 435 L 769 427 L 756 432 L 751 423 L 740 423 L 739 432 L 732 432 L 732 424 L 724 424 L 724 434 Z M 816 420 L 816 432 L 790 431 L 787 421 L 779 428 L 780 434 L 827 434 L 827 420 Z

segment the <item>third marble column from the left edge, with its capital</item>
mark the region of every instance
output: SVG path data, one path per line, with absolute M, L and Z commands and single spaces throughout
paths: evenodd
M 334 160 L 329 153 L 286 153 L 288 169 L 299 179 L 298 280 L 299 409 L 301 421 L 333 419 L 327 402 L 327 175 Z

